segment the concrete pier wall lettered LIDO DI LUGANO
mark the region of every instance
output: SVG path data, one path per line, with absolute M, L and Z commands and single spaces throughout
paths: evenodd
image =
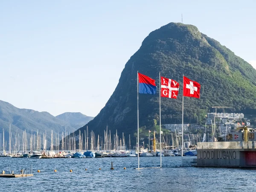
M 197 166 L 256 168 L 256 142 L 198 143 Z

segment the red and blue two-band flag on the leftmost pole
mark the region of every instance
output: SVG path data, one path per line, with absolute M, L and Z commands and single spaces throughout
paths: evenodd
M 155 95 L 157 93 L 157 86 L 155 80 L 141 73 L 139 76 L 139 93 Z

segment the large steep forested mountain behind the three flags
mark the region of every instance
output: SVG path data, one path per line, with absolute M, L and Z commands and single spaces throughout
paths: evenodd
M 151 32 L 131 56 L 113 95 L 87 123 L 89 129 L 96 134 L 102 134 L 106 125 L 125 134 L 137 130 L 137 71 L 156 79 L 158 87 L 157 95 L 140 94 L 140 127 L 150 127 L 159 119 L 159 72 L 180 83 L 177 99 L 161 99 L 162 124 L 181 123 L 183 74 L 201 84 L 200 99 L 184 98 L 184 122 L 200 122 L 212 106 L 256 112 L 256 70 L 197 27 L 169 23 Z

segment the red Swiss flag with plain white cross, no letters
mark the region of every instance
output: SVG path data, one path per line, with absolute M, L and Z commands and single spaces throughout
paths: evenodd
M 201 85 L 183 76 L 183 96 L 200 98 Z

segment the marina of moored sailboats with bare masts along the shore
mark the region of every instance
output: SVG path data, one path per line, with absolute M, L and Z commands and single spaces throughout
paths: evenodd
M 9 128 L 11 130 L 11 127 Z M 11 131 L 9 131 L 10 133 Z M 88 136 L 89 134 L 89 136 Z M 53 145 L 55 143 L 55 145 Z M 96 144 L 97 143 L 97 144 Z M 55 134 L 55 142 L 53 137 L 53 131 L 51 133 L 51 145 L 47 147 L 46 133 L 43 134 L 43 142 L 41 142 L 41 134 L 31 134 L 29 143 L 27 140 L 26 131 L 23 132 L 20 137 L 19 134 L 12 138 L 12 134 L 9 135 L 9 150 L 7 152 L 2 137 L 0 140 L 0 157 L 13 157 L 13 158 L 100 158 L 100 157 L 174 157 L 181 156 L 181 149 L 175 146 L 163 146 L 160 153 L 157 140 L 152 139 L 152 149 L 141 147 L 140 151 L 131 150 L 131 139 L 129 135 L 129 149 L 126 149 L 125 137 L 122 134 L 122 138 L 119 138 L 117 131 L 113 134 L 113 140 L 111 139 L 111 131 L 104 131 L 104 137 L 99 137 L 96 140 L 93 131 L 90 133 L 84 131 L 84 135 L 79 131 L 79 135 L 61 134 L 61 142 L 59 142 L 59 134 Z M 143 143 L 144 144 L 144 143 Z M 3 150 L 2 150 L 3 146 Z M 157 147 L 158 146 L 158 147 Z M 137 147 L 136 147 L 137 149 Z M 20 152 L 22 151 L 22 152 Z M 189 146 L 189 148 L 183 148 L 183 155 L 196 156 L 196 145 Z

